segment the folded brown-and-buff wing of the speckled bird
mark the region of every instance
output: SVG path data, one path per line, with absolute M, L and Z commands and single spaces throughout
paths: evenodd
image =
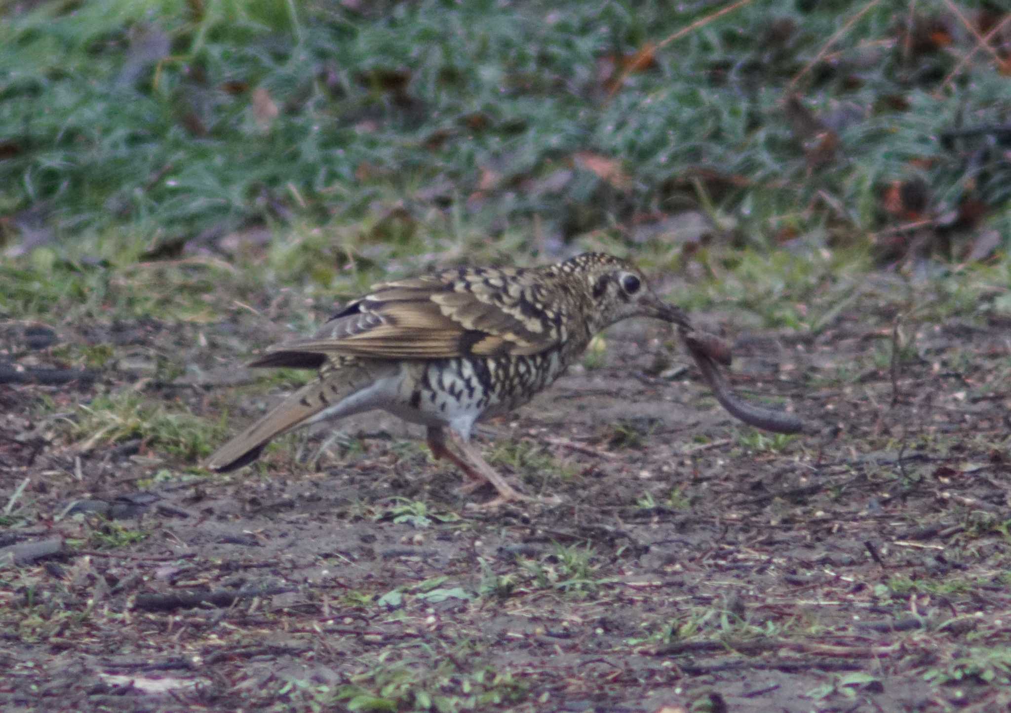
M 271 347 L 253 365 L 293 363 L 296 354 L 304 355 L 306 363 L 310 355 L 437 359 L 538 354 L 565 339 L 567 314 L 564 300 L 547 299 L 534 277 L 527 270 L 453 270 L 374 285 L 315 336 Z M 552 306 L 543 306 L 546 302 Z

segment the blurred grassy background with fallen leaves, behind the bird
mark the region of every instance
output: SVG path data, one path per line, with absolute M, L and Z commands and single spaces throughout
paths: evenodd
M 582 249 L 765 325 L 868 270 L 1011 311 L 1008 9 L 755 0 L 661 44 L 730 7 L 8 2 L 0 317 Z

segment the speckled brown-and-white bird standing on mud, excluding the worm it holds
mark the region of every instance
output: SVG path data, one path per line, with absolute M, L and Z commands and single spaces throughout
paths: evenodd
M 531 400 L 579 359 L 594 335 L 629 318 L 691 330 L 632 263 L 582 253 L 540 267 L 460 267 L 373 285 L 316 334 L 271 346 L 251 367 L 314 369 L 316 378 L 221 446 L 226 472 L 301 426 L 383 410 L 427 428 L 435 459 L 463 471 L 479 507 L 537 501 L 511 485 L 471 442 L 476 423 Z

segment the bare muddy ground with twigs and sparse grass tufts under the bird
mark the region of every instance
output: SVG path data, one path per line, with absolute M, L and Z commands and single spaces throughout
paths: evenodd
M 284 336 L 254 306 L 0 331 L 5 711 L 1011 703 L 1006 317 L 696 315 L 740 394 L 817 427 L 790 438 L 620 325 L 480 439 L 561 505 L 484 512 L 383 416 L 201 470 L 299 379 L 235 367 Z M 38 382 L 68 364 L 95 368 Z

